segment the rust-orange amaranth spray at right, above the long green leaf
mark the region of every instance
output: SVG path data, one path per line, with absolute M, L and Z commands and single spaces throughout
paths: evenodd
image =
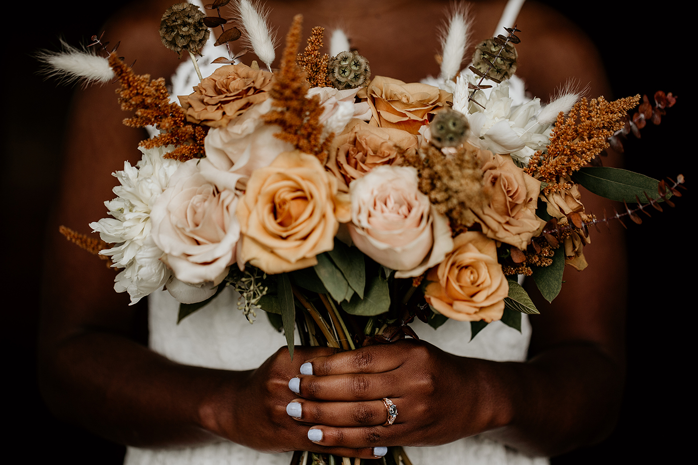
M 526 172 L 548 183 L 546 193 L 570 189 L 572 185 L 564 179 L 609 147 L 607 139 L 623 127 L 626 112 L 639 100 L 639 95 L 613 102 L 603 97 L 592 101 L 582 98 L 566 118 L 560 112 L 546 151 L 535 152 Z

